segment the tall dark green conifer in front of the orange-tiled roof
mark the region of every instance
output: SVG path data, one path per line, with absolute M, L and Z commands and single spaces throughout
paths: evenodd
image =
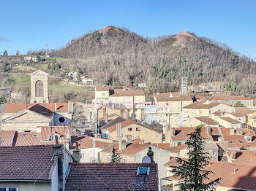
M 209 174 L 204 168 L 211 163 L 208 152 L 204 152 L 203 137 L 201 136 L 202 125 L 198 126 L 194 133 L 189 134 L 186 144 L 189 149 L 189 159 L 177 159 L 178 166 L 171 166 L 174 176 L 180 177 L 181 181 L 177 185 L 181 191 L 206 191 L 215 190 L 215 185 L 220 179 L 210 180 Z

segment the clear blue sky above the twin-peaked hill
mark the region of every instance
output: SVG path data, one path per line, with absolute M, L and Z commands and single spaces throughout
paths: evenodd
M 105 26 L 143 36 L 192 31 L 256 60 L 256 1 L 0 1 L 0 53 L 26 53 Z

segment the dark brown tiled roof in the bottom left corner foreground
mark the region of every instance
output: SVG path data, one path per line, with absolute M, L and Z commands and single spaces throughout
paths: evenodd
M 52 146 L 0 147 L 0 180 L 50 181 Z

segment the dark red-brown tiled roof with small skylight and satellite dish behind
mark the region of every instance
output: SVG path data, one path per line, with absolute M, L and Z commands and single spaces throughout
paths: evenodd
M 150 167 L 149 175 L 137 175 L 138 167 Z M 138 178 L 146 184 L 138 183 Z M 71 163 L 65 191 L 158 189 L 157 163 Z

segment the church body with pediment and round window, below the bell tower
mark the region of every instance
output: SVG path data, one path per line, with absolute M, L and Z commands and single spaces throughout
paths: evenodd
M 1 104 L 0 127 L 2 130 L 37 131 L 37 127 L 69 125 L 73 104 Z

